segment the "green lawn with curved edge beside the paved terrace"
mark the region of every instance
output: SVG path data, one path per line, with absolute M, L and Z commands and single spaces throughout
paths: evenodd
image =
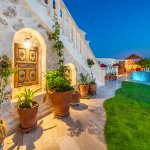
M 150 150 L 150 86 L 123 82 L 104 107 L 108 150 Z

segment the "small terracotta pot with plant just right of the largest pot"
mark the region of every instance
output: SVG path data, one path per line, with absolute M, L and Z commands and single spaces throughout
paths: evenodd
M 80 92 L 78 86 L 74 87 L 74 92 L 71 100 L 71 105 L 78 105 L 80 103 Z

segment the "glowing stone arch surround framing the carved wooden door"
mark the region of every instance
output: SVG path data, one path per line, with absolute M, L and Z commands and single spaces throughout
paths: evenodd
M 37 72 L 37 76 L 38 76 L 38 82 L 37 84 L 32 84 L 32 85 L 25 85 L 23 87 L 16 87 L 14 86 L 15 84 L 15 75 L 12 77 L 12 98 L 16 98 L 16 95 L 24 88 L 30 88 L 32 90 L 36 90 L 39 88 L 43 88 L 44 86 L 44 76 L 43 73 L 46 73 L 46 45 L 45 45 L 45 41 L 42 37 L 42 35 L 32 29 L 32 28 L 23 28 L 19 31 L 17 31 L 14 35 L 14 39 L 13 39 L 13 60 L 15 62 L 15 45 L 16 44 L 20 44 L 20 45 L 24 45 L 26 39 L 29 40 L 30 42 L 30 46 L 31 47 L 36 47 L 38 48 L 38 72 Z M 15 66 L 15 64 L 14 64 Z

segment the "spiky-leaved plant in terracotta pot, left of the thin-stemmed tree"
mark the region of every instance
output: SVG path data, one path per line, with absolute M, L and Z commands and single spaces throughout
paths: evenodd
M 88 98 L 89 82 L 88 75 L 80 74 L 80 94 L 81 98 Z

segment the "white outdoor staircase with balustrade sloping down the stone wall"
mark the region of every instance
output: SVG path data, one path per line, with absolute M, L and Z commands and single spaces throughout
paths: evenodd
M 93 66 L 92 71 L 96 78 L 97 86 L 104 85 L 104 71 L 99 66 L 91 51 L 89 42 L 85 40 L 85 33 L 78 28 L 63 1 L 56 0 L 56 9 L 53 9 L 53 0 L 50 0 L 49 2 L 44 0 L 25 0 L 25 2 L 50 31 L 53 31 L 53 16 L 54 13 L 56 13 L 58 22 L 61 26 L 61 40 L 65 49 L 89 74 L 90 69 L 87 66 L 86 61 L 88 58 L 93 59 L 95 65 Z M 63 17 L 60 17 L 61 11 Z M 74 31 L 73 35 L 72 31 Z

